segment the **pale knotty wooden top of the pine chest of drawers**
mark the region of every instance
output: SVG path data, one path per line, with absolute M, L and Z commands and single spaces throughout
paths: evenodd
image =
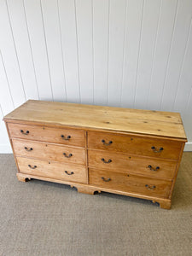
M 172 112 L 29 100 L 8 119 L 187 140 L 180 113 Z

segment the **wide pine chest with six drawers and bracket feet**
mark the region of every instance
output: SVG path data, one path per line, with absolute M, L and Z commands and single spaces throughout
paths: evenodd
M 187 138 L 179 113 L 30 100 L 4 117 L 20 181 L 171 207 Z

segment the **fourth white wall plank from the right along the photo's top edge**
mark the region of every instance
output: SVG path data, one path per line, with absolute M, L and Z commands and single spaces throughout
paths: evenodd
M 136 19 L 137 17 L 137 19 Z M 121 106 L 133 108 L 137 78 L 137 59 L 143 20 L 143 0 L 128 0 L 125 26 L 125 53 Z

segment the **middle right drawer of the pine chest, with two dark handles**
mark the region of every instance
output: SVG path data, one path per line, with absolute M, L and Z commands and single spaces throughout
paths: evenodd
M 89 166 L 114 172 L 131 172 L 172 179 L 177 166 L 175 160 L 154 159 L 136 155 L 119 154 L 106 150 L 88 150 Z

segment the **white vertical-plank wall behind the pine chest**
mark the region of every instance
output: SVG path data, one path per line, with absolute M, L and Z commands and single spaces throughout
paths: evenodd
M 191 20 L 191 0 L 0 0 L 0 153 L 27 99 L 177 111 L 192 150 Z

